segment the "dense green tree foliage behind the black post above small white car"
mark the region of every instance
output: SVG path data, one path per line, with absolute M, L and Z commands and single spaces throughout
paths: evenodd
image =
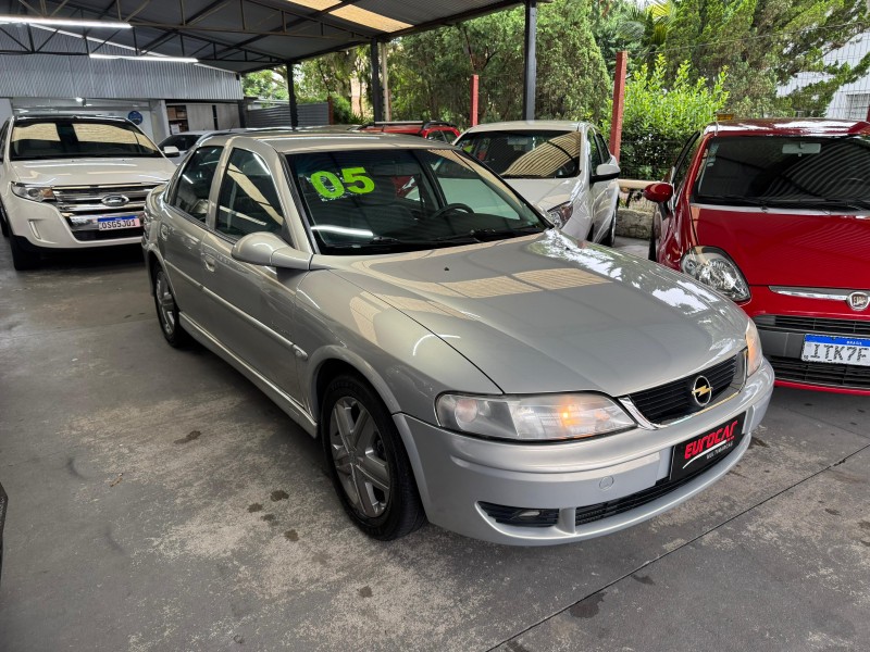
M 602 117 L 610 83 L 592 25 L 585 0 L 539 7 L 537 117 Z M 523 29 L 515 9 L 399 39 L 389 59 L 394 114 L 469 124 L 469 84 L 477 74 L 480 120 L 521 117 Z

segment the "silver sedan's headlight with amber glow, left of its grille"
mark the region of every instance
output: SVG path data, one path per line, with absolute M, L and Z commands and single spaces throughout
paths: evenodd
M 467 397 L 442 394 L 436 402 L 445 428 L 520 441 L 580 439 L 626 430 L 634 421 L 599 394 Z

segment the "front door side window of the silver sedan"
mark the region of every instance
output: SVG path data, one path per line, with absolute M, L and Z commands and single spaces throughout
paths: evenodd
M 243 149 L 229 154 L 214 228 L 232 238 L 257 231 L 281 230 L 284 213 L 269 167 L 260 156 Z

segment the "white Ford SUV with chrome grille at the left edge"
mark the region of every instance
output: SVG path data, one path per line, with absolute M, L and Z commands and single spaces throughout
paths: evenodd
M 132 122 L 27 115 L 0 128 L 0 227 L 16 269 L 46 250 L 141 240 L 145 198 L 175 172 Z

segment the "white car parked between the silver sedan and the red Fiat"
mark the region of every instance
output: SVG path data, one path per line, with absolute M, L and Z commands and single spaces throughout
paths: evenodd
M 613 243 L 620 170 L 589 123 L 490 123 L 470 128 L 456 145 L 546 211 L 567 235 Z

